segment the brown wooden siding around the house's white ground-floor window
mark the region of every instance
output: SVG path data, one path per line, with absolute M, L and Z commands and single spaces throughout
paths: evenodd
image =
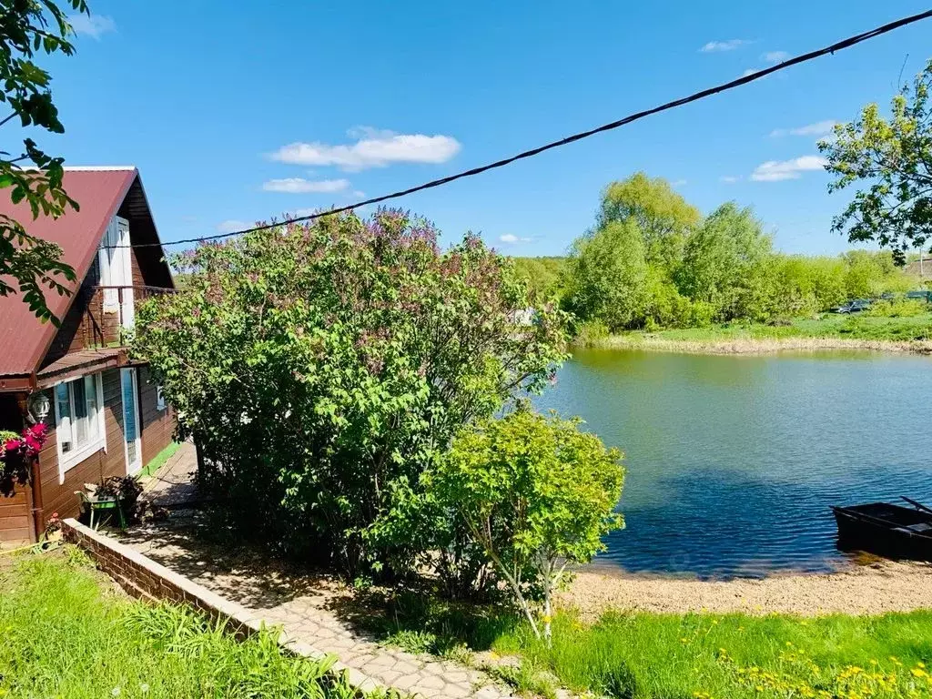
M 49 395 L 49 400 L 53 397 Z M 111 475 L 126 474 L 126 454 L 123 448 L 123 401 L 120 396 L 119 370 L 103 372 L 103 420 L 107 432 L 106 451 L 84 459 L 64 474 L 64 483 L 59 483 L 58 441 L 55 433 L 55 418 L 49 416 L 48 442 L 39 454 L 42 474 L 42 500 L 46 519 L 54 513 L 62 518 L 80 514 L 80 504 L 75 490 L 84 488 L 85 483 L 100 483 Z

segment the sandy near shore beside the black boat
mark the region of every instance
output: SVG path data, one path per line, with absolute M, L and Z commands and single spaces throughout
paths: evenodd
M 741 611 L 816 616 L 932 609 L 932 565 L 882 561 L 821 575 L 699 581 L 580 572 L 561 603 L 589 621 L 605 610 Z

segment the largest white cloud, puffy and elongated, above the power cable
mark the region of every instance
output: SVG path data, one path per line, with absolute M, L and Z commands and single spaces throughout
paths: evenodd
M 452 136 L 423 133 L 393 133 L 368 127 L 350 129 L 354 144 L 328 145 L 319 142 L 284 145 L 270 158 L 293 165 L 336 165 L 346 171 L 384 168 L 394 162 L 442 163 L 453 158 L 462 146 Z

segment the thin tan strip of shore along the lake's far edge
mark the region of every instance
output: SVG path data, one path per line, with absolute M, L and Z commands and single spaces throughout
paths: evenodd
M 688 354 L 770 354 L 785 350 L 870 349 L 872 351 L 932 354 L 929 340 L 860 340 L 849 337 L 739 337 L 709 340 L 671 340 L 650 335 L 610 336 L 596 349 L 650 349 Z

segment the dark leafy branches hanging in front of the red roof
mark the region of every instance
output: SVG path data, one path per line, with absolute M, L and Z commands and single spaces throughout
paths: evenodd
M 77 12 L 88 12 L 85 0 L 66 0 Z M 36 53 L 61 52 L 75 48 L 62 9 L 51 0 L 9 0 L 0 12 L 0 103 L 10 114 L 0 126 L 19 118 L 23 127 L 38 127 L 62 133 L 64 127 L 52 102 L 51 76 L 34 63 Z M 23 163 L 37 170 L 22 170 Z M 25 201 L 33 219 L 40 214 L 58 218 L 67 207 L 77 210 L 62 187 L 62 158 L 40 150 L 32 138 L 25 138 L 20 153 L 0 151 L 0 188 L 9 188 L 14 203 Z M 0 296 L 16 293 L 43 322 L 58 324 L 48 310 L 43 287 L 59 295 L 70 294 L 62 283 L 75 281 L 75 270 L 65 265 L 58 245 L 39 240 L 26 232 L 22 222 L 0 214 Z M 5 281 L 4 277 L 11 278 Z

